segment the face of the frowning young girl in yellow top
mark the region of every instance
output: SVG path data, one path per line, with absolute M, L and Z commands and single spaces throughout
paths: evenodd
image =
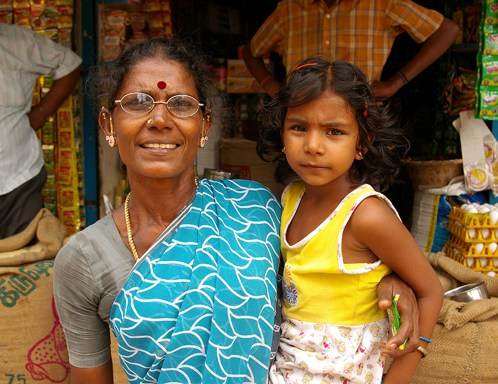
M 361 158 L 358 123 L 341 96 L 327 90 L 307 104 L 288 108 L 282 141 L 289 165 L 306 184 L 351 184 L 351 165 Z

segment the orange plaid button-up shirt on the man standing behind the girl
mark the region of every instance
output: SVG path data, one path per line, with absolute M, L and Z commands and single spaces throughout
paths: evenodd
M 290 70 L 322 53 L 360 67 L 378 80 L 394 39 L 407 32 L 417 43 L 441 25 L 443 15 L 409 0 L 282 0 L 250 41 L 254 57 L 272 51 Z

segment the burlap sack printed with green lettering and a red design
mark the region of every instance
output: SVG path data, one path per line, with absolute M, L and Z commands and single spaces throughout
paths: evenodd
M 53 260 L 0 267 L 0 378 L 70 383 L 66 341 L 53 303 Z

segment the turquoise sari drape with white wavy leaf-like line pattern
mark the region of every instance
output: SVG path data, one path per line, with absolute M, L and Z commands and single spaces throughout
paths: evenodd
M 130 383 L 265 383 L 280 214 L 261 184 L 200 180 L 113 304 Z

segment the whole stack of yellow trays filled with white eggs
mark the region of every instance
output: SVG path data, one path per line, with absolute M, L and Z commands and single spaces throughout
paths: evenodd
M 498 203 L 462 204 L 448 215 L 447 255 L 489 276 L 498 272 Z

